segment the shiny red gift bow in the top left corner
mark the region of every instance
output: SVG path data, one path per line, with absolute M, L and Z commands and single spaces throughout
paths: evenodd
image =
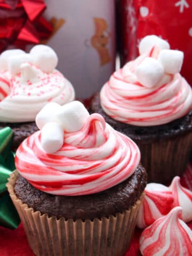
M 53 28 L 42 17 L 45 8 L 43 0 L 0 0 L 0 52 L 9 45 L 25 50 L 49 38 Z

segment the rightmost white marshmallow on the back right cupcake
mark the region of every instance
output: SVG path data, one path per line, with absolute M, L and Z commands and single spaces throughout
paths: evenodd
M 175 74 L 181 71 L 184 54 L 177 50 L 162 50 L 158 60 L 162 63 L 164 70 L 168 74 Z

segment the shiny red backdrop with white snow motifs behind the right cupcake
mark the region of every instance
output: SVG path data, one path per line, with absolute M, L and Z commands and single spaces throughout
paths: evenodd
M 185 54 L 181 74 L 192 85 L 192 3 L 190 0 L 117 0 L 121 65 L 138 55 L 141 38 L 155 34 Z

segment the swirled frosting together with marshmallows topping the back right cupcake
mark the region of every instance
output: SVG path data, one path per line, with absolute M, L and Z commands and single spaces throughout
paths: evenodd
M 191 87 L 179 74 L 183 53 L 169 50 L 167 42 L 157 38 L 141 41 L 142 54 L 103 85 L 101 106 L 111 118 L 154 126 L 178 119 L 192 109 Z

